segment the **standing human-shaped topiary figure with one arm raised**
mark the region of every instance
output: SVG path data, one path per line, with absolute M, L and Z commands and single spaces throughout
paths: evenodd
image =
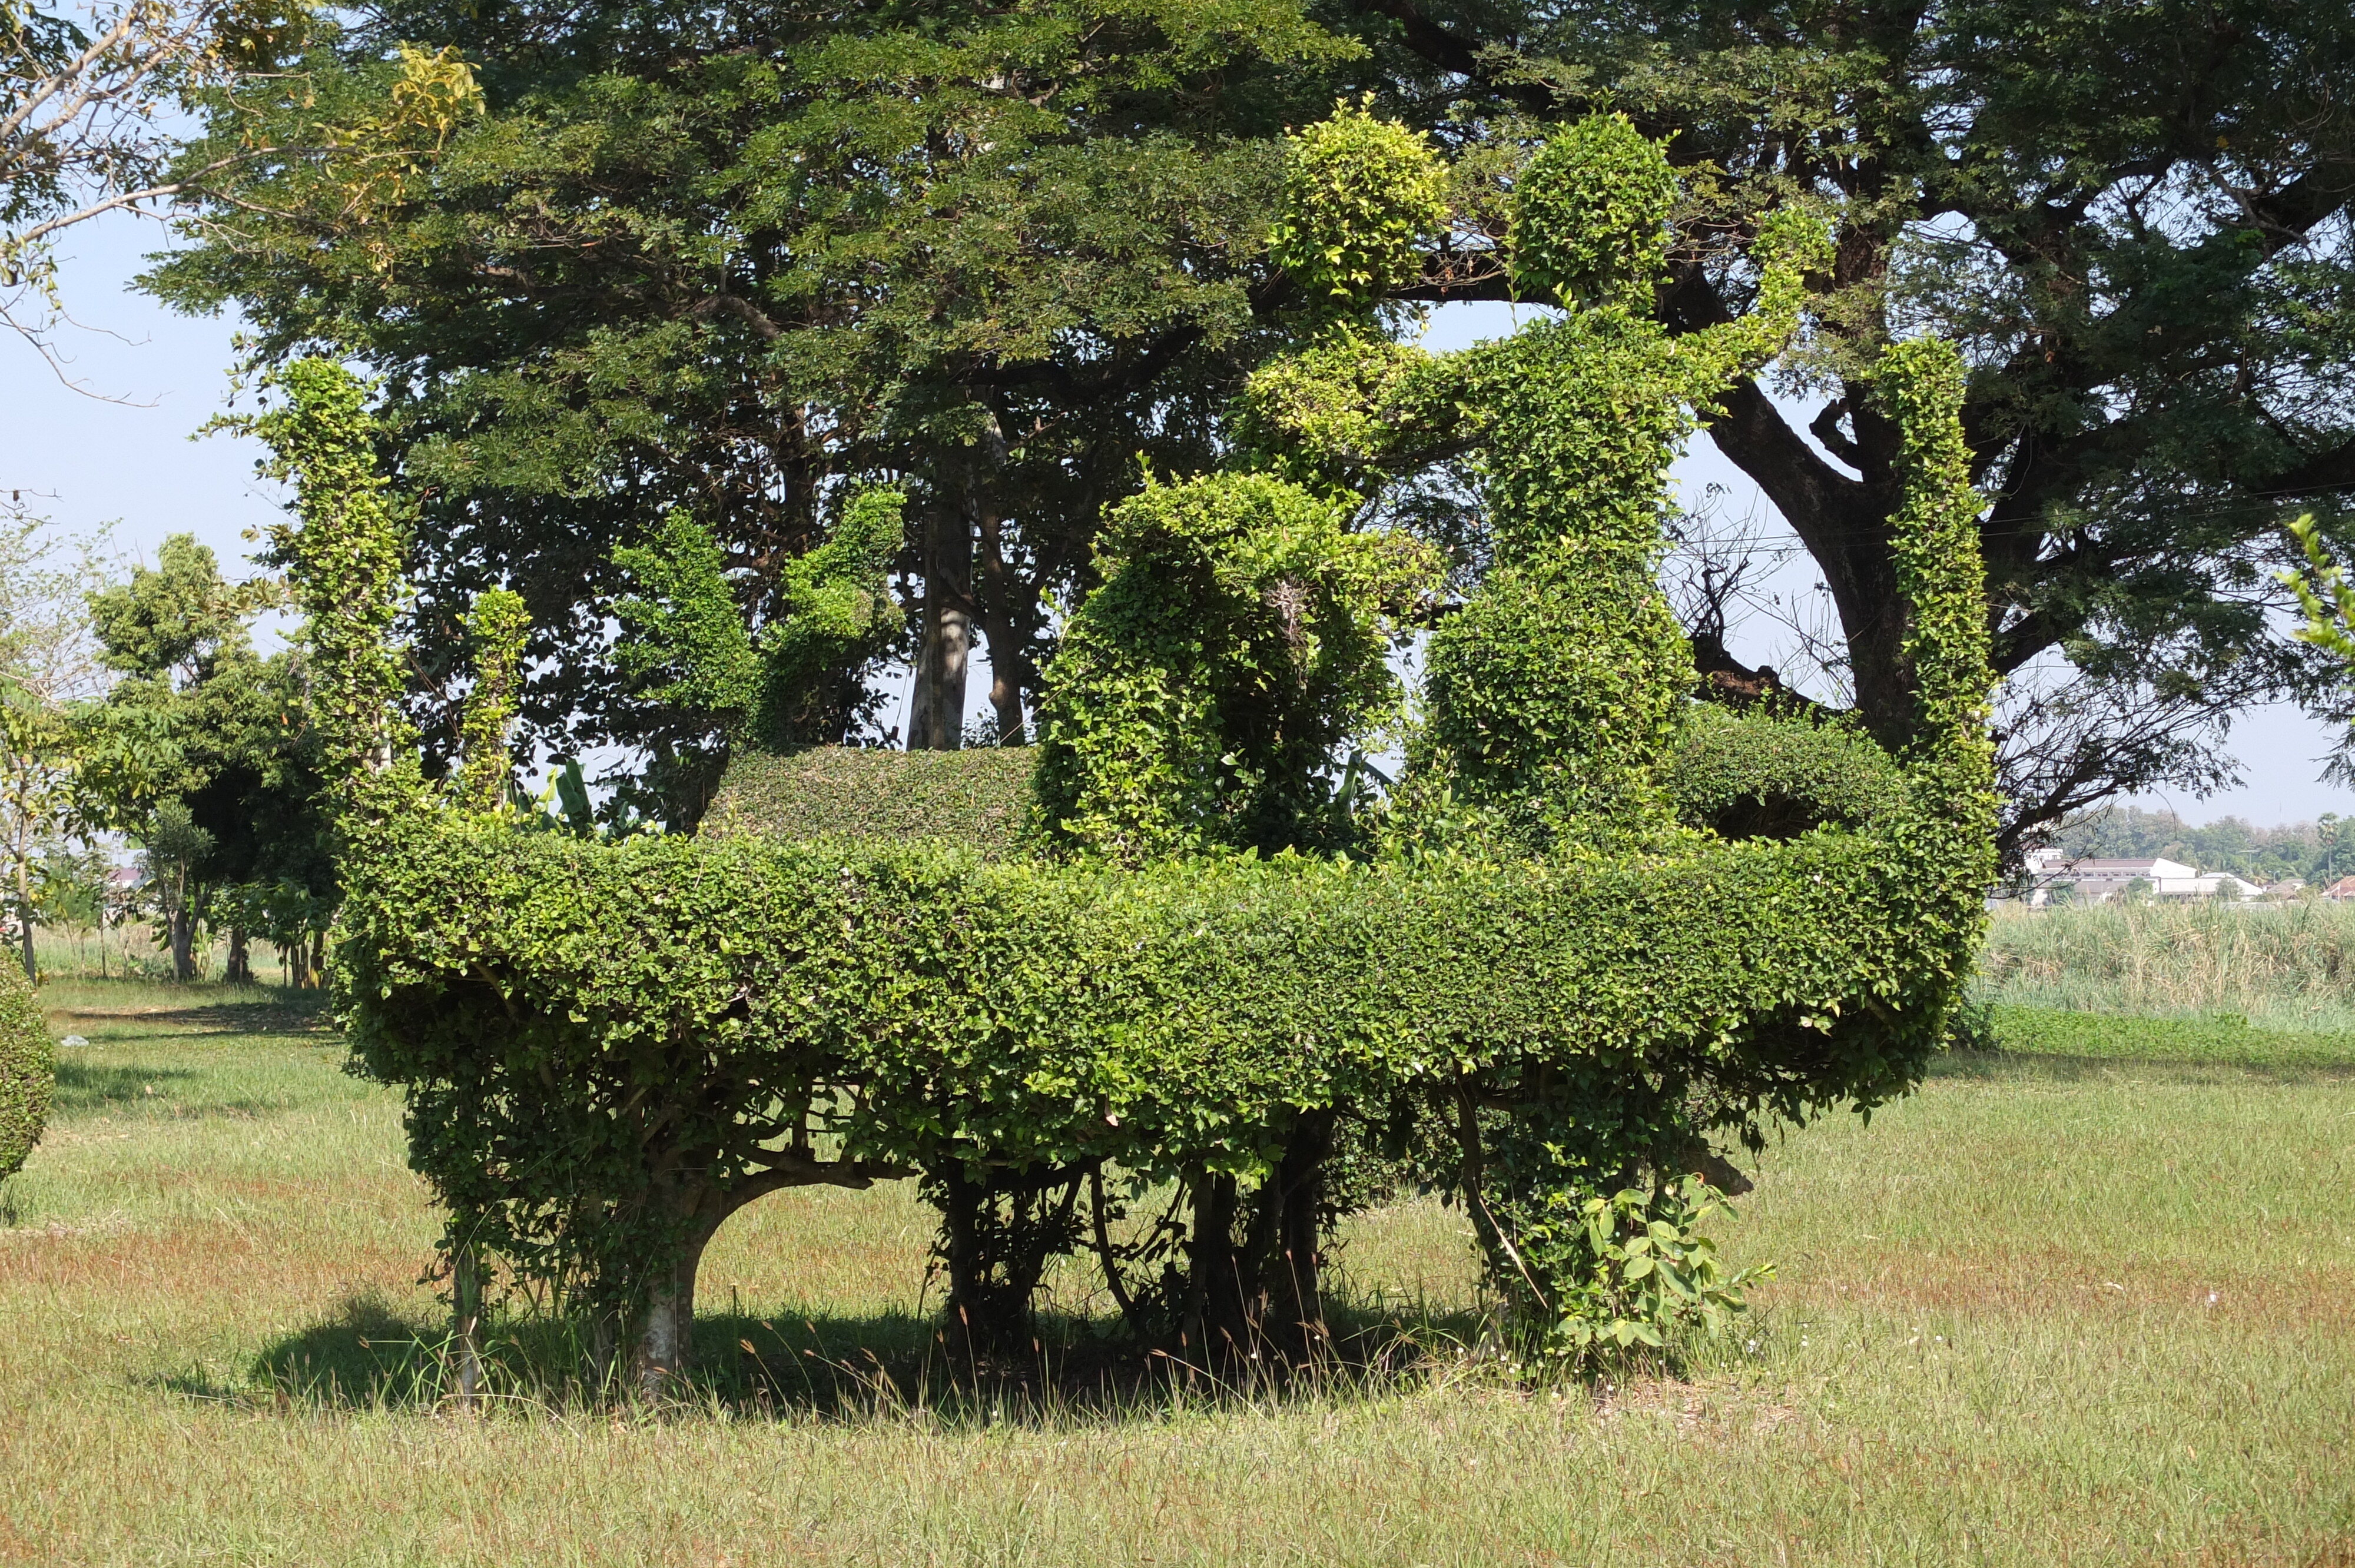
M 1291 473 L 1366 480 L 1380 459 L 1470 450 L 1493 565 L 1425 659 L 1413 796 L 1519 852 L 1672 826 L 1660 758 L 1691 647 L 1656 582 L 1677 443 L 1799 318 L 1820 228 L 1773 224 L 1759 308 L 1670 337 L 1653 320 L 1677 184 L 1625 118 L 1554 137 L 1514 191 L 1514 268 L 1573 306 L 1453 356 L 1328 337 L 1269 365 L 1246 440 Z

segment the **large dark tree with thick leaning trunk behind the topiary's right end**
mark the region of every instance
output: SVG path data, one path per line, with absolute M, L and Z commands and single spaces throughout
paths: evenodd
M 1604 106 L 1672 137 L 1691 200 L 1656 306 L 1674 330 L 1747 308 L 1754 273 L 1724 240 L 1759 212 L 1835 217 L 1785 396 L 1738 384 L 1710 436 L 1823 570 L 1877 727 L 1905 713 L 1908 671 L 1896 433 L 1865 372 L 1893 337 L 1966 348 L 1995 662 L 2011 678 L 2009 843 L 2122 789 L 2216 784 L 2233 768 L 2223 730 L 2251 702 L 2334 699 L 2270 612 L 2277 523 L 2336 518 L 2355 485 L 2343 2 L 1349 9 L 1427 118 Z M 1510 290 L 1458 247 L 1408 294 Z

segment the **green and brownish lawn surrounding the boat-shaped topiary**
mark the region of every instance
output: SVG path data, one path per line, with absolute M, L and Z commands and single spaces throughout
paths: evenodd
M 0 1189 L 0 1561 L 2355 1563 L 2355 1038 L 2002 1012 L 1769 1151 L 1724 1241 L 1780 1274 L 1684 1380 L 1451 1354 L 1462 1224 L 1411 1203 L 1342 1253 L 1427 1326 L 1389 1370 L 862 1398 L 926 1342 L 888 1187 L 723 1231 L 697 1340 L 751 1351 L 704 1406 L 473 1420 L 414 1396 L 433 1215 L 309 998 L 45 1001 L 89 1045 Z

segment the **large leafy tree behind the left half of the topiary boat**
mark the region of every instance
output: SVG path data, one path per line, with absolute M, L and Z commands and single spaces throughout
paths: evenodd
M 447 127 L 358 155 L 445 47 L 471 68 Z M 1102 506 L 1208 466 L 1265 358 L 1276 139 L 1356 57 L 1291 0 L 386 5 L 276 106 L 221 106 L 193 160 L 290 151 L 158 287 L 238 301 L 266 358 L 384 377 L 424 687 L 509 584 L 528 739 L 676 758 L 692 815 L 721 732 L 610 657 L 617 553 L 683 511 L 763 626 L 850 485 L 900 487 L 907 739 L 958 744 L 975 631 L 1017 735 Z M 447 713 L 422 706 L 429 746 Z

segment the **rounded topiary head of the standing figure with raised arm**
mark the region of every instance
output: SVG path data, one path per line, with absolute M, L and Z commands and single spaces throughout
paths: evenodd
M 1677 174 L 1627 115 L 1590 115 L 1521 170 L 1512 193 L 1512 287 L 1561 304 L 1644 304 L 1667 271 Z

